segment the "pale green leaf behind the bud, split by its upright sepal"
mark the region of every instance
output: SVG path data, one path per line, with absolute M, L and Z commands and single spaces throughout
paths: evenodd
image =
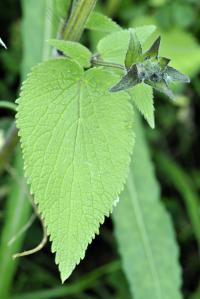
M 137 37 L 141 44 L 154 32 L 155 26 L 142 26 L 135 28 Z M 121 30 L 111 33 L 101 39 L 97 51 L 102 59 L 109 62 L 124 64 L 124 59 L 129 45 L 129 30 Z

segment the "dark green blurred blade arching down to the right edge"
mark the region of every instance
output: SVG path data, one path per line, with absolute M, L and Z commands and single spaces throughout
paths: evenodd
M 188 174 L 172 159 L 161 153 L 156 153 L 156 160 L 160 171 L 166 176 L 167 180 L 181 194 L 188 215 L 190 217 L 193 231 L 200 250 L 200 210 L 199 196 Z

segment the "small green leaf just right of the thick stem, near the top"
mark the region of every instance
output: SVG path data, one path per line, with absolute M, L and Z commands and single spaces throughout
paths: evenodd
M 121 30 L 121 27 L 117 23 L 99 12 L 91 13 L 85 28 L 107 33 Z

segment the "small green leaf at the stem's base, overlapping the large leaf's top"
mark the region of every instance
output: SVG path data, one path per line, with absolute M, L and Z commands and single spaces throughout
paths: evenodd
M 64 41 L 59 39 L 50 39 L 48 42 L 66 56 L 76 60 L 83 67 L 90 66 L 92 53 L 88 50 L 88 48 L 84 47 L 78 42 Z

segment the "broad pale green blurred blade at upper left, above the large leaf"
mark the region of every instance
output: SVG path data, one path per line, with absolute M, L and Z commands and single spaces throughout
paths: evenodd
M 47 40 L 56 37 L 58 22 L 54 17 L 54 0 L 21 0 L 23 10 L 22 38 L 24 56 L 22 77 L 26 77 L 32 66 L 51 55 Z M 56 6 L 57 8 L 57 6 Z

